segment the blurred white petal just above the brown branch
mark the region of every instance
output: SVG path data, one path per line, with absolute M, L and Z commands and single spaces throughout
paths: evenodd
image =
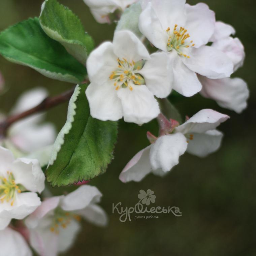
M 11 114 L 22 113 L 41 103 L 48 96 L 46 89 L 38 87 L 24 92 L 11 110 Z

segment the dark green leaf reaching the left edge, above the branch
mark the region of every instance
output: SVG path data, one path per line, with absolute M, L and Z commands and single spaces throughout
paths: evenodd
M 87 74 L 84 65 L 44 33 L 37 18 L 1 32 L 0 54 L 11 62 L 29 66 L 47 77 L 65 82 L 81 83 Z

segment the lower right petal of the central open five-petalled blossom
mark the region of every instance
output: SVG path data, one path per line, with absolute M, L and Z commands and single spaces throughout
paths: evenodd
M 132 91 L 121 88 L 117 95 L 121 99 L 125 122 L 142 125 L 160 113 L 158 102 L 146 85 L 135 85 Z

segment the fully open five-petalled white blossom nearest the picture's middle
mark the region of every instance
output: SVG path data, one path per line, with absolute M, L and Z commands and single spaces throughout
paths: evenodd
M 146 60 L 141 69 L 142 60 Z M 91 84 L 86 90 L 91 115 L 106 121 L 143 124 L 160 113 L 157 97 L 171 91 L 165 54 L 149 55 L 130 31 L 115 33 L 113 43 L 105 42 L 87 60 Z

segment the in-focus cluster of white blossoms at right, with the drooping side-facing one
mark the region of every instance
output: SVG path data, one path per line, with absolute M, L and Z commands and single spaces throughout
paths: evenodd
M 101 1 L 85 2 L 98 20 L 137 1 L 109 1 L 107 8 Z M 150 55 L 141 38 L 126 29 L 116 31 L 113 43 L 101 44 L 87 60 L 91 84 L 86 95 L 93 117 L 114 121 L 124 117 L 139 125 L 158 117 L 161 127 L 159 137 L 148 132 L 151 145 L 127 164 L 120 174 L 123 182 L 140 181 L 150 172 L 163 176 L 185 151 L 204 157 L 221 145 L 223 134 L 216 127 L 227 115 L 203 109 L 179 124 L 160 113 L 157 98 L 166 98 L 172 90 L 185 97 L 200 93 L 241 113 L 249 97 L 243 79 L 230 78 L 243 65 L 243 44 L 231 36 L 232 26 L 215 20 L 206 4 L 191 6 L 185 0 L 139 4 L 138 29 L 158 51 Z

